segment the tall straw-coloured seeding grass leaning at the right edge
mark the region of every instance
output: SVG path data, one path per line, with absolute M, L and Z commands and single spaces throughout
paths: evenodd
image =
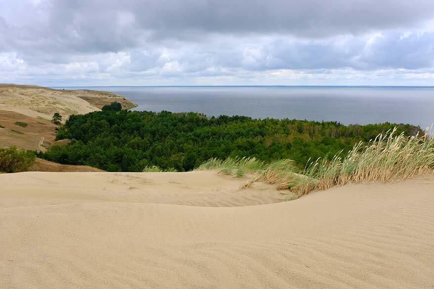
M 342 152 L 331 160 L 318 159 L 303 171 L 294 190 L 303 196 L 311 190 L 325 190 L 348 183 L 396 181 L 434 172 L 434 137 L 405 136 L 396 129 L 378 135 L 368 144 L 354 145 L 347 156 Z

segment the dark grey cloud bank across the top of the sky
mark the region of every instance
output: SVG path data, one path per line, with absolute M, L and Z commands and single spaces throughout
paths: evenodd
M 7 17 L 18 23 L 30 19 L 11 26 L 9 41 L 82 53 L 119 51 L 161 38 L 198 41 L 209 33 L 324 38 L 434 17 L 432 0 L 42 0 L 28 6 Z

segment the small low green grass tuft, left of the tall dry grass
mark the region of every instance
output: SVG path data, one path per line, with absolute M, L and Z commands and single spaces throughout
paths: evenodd
M 219 160 L 213 158 L 208 162 L 199 165 L 197 170 L 217 169 L 218 173 L 231 175 L 233 177 L 243 177 L 246 173 L 258 172 L 264 169 L 264 163 L 256 158 L 227 158 Z

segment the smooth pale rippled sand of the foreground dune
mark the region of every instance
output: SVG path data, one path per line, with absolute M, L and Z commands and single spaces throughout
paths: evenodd
M 0 174 L 0 288 L 434 288 L 432 176 L 283 203 L 243 182 Z

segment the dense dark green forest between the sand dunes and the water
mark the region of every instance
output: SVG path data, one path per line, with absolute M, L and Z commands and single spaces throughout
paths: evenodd
M 138 112 L 105 109 L 73 115 L 58 129 L 52 146 L 39 156 L 61 164 L 90 165 L 107 171 L 141 171 L 145 166 L 188 171 L 211 158 L 255 157 L 270 162 L 334 156 L 359 141 L 368 142 L 394 126 L 408 135 L 420 131 L 409 124 L 343 125 L 337 122 L 252 119 L 244 116 L 207 118 L 198 113 Z

